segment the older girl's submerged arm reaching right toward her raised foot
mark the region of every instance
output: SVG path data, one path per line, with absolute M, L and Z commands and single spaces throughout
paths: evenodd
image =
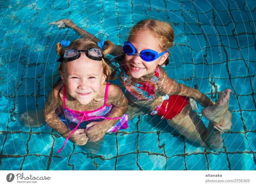
M 191 87 L 176 83 L 170 79 L 162 68 L 159 68 L 159 78 L 157 81 L 157 90 L 160 94 L 187 96 L 194 99 L 203 107 L 214 105 L 214 102 L 200 91 Z

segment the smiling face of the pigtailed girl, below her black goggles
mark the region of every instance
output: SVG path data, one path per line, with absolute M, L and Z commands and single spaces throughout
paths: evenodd
M 102 61 L 89 59 L 84 52 L 80 58 L 66 63 L 64 76 L 60 76 L 66 85 L 66 93 L 80 104 L 86 105 L 96 97 L 106 80 Z

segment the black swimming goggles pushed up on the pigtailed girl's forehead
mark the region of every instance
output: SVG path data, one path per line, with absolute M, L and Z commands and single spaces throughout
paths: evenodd
M 64 59 L 64 62 L 78 59 L 81 55 L 81 52 L 85 52 L 85 55 L 88 58 L 93 60 L 101 61 L 102 58 L 105 59 L 100 49 L 97 49 L 97 48 L 91 48 L 89 50 L 68 49 L 68 50 L 65 50 L 64 54 L 60 56 L 60 58 L 58 59 L 58 62 L 63 61 L 63 59 Z

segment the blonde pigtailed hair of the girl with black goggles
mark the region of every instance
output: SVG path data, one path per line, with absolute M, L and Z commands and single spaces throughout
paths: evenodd
M 85 38 L 76 39 L 75 41 L 72 41 L 69 44 L 69 46 L 66 47 L 65 49 L 62 49 L 60 42 L 57 43 L 55 46 L 56 52 L 59 56 L 63 55 L 66 50 L 71 49 L 71 48 L 76 49 L 76 50 L 88 50 L 90 48 L 100 49 L 95 40 L 85 39 Z M 102 49 L 100 49 L 100 50 L 104 54 L 104 57 L 106 57 L 107 54 L 111 53 L 114 50 L 114 44 L 111 41 L 104 41 L 103 50 Z M 109 79 L 111 79 L 113 74 L 115 75 L 115 73 L 112 72 L 111 67 L 107 63 L 110 63 L 110 62 L 108 62 L 107 59 L 105 61 L 102 58 L 103 74 L 107 77 L 106 79 L 109 80 Z M 66 62 L 63 59 L 63 61 L 61 61 L 60 65 L 58 66 L 58 71 L 61 71 L 62 73 L 64 73 L 65 70 L 63 70 L 63 69 L 65 68 L 65 64 L 66 64 Z M 59 79 L 54 83 L 53 87 L 60 84 L 60 82 L 61 82 L 61 78 L 59 77 Z M 59 92 L 60 92 L 60 90 L 59 90 Z

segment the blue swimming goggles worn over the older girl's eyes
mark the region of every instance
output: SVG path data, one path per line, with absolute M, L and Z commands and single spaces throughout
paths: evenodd
M 148 49 L 148 50 L 142 50 L 140 53 L 136 53 L 136 49 L 129 42 L 124 42 L 123 50 L 128 56 L 132 56 L 132 55 L 140 56 L 140 58 L 143 61 L 147 61 L 147 62 L 156 60 L 157 58 L 159 58 L 160 56 L 162 56 L 164 53 L 168 51 L 166 50 L 158 54 L 156 51 Z

